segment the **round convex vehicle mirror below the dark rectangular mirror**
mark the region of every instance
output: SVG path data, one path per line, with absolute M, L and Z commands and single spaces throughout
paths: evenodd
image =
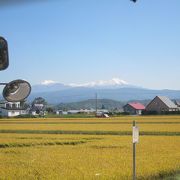
M 24 80 L 14 80 L 6 84 L 3 89 L 3 97 L 8 102 L 18 102 L 26 99 L 31 93 L 31 85 Z

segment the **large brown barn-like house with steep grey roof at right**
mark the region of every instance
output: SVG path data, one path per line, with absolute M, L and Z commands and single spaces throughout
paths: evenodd
M 178 111 L 178 106 L 165 96 L 156 96 L 147 106 L 146 111 L 171 112 Z

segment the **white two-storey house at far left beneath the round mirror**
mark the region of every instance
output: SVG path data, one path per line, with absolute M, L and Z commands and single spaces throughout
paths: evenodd
M 0 116 L 15 117 L 28 114 L 27 107 L 22 106 L 20 102 L 0 102 Z

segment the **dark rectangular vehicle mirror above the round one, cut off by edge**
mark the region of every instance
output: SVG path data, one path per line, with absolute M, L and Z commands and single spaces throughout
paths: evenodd
M 6 69 L 8 66 L 8 43 L 3 37 L 0 37 L 0 71 Z

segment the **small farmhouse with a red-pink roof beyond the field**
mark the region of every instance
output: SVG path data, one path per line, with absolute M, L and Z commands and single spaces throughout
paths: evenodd
M 143 110 L 145 110 L 145 106 L 138 102 L 128 103 L 124 107 L 124 112 L 127 112 L 131 115 L 140 115 Z

